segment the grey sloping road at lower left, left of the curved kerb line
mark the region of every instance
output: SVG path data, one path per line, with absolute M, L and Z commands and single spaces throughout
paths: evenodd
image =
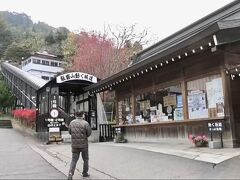
M 29 143 L 16 130 L 0 128 L 0 179 L 66 179 Z

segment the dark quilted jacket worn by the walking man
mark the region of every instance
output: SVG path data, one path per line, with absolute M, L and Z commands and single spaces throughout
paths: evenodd
M 88 137 L 92 129 L 87 121 L 82 118 L 74 119 L 68 127 L 69 134 L 72 137 L 72 148 L 87 148 Z

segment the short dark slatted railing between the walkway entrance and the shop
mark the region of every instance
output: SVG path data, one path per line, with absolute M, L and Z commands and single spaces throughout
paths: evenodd
M 116 124 L 99 124 L 99 141 L 106 142 L 112 141 L 115 138 L 115 126 Z

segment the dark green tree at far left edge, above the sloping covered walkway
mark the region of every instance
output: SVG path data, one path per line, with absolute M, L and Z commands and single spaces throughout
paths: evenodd
M 0 18 L 0 59 L 3 57 L 8 45 L 12 42 L 12 34 L 3 19 Z

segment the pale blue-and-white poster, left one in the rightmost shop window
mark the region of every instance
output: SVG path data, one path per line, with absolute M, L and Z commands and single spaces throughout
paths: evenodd
M 189 119 L 199 119 L 208 117 L 206 104 L 206 94 L 193 94 L 188 96 Z

